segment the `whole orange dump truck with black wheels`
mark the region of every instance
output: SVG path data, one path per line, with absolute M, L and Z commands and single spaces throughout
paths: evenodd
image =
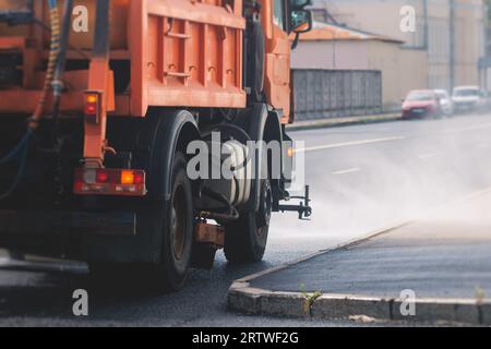
M 272 212 L 311 213 L 280 204 L 309 3 L 0 0 L 0 248 L 168 290 L 219 248 L 260 261 Z

